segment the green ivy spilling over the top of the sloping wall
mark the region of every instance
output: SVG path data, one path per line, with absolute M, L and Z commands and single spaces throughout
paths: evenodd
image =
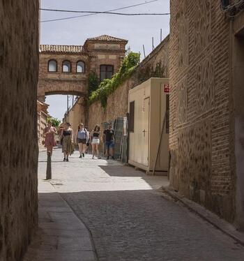
M 107 97 L 112 94 L 130 75 L 135 71 L 140 60 L 140 54 L 137 52 L 128 52 L 123 59 L 121 68 L 118 73 L 115 73 L 111 79 L 105 79 L 100 82 L 96 90 L 92 90 L 89 94 L 89 103 L 99 100 L 102 107 L 107 105 Z M 91 78 L 93 79 L 93 78 Z M 96 82 L 94 79 L 91 82 Z M 90 80 L 89 80 L 90 84 Z M 95 88 L 96 84 L 91 84 Z M 89 89 L 90 90 L 90 89 Z

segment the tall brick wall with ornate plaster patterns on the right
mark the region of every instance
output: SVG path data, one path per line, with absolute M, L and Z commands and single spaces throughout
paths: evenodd
M 170 183 L 234 222 L 238 182 L 231 27 L 218 0 L 171 0 Z

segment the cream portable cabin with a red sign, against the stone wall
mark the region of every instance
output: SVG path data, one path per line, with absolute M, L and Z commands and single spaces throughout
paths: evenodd
M 146 170 L 147 174 L 152 174 L 154 167 L 155 174 L 157 172 L 167 174 L 169 79 L 151 78 L 130 89 L 128 111 L 130 115 L 129 164 Z M 162 126 L 164 126 L 163 130 Z

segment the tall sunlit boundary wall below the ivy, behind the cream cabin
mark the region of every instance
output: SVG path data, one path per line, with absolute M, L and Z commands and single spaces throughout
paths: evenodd
M 169 73 L 169 36 L 158 45 L 137 67 L 130 79 L 126 80 L 121 86 L 107 98 L 107 106 L 102 107 L 99 101 L 92 103 L 88 107 L 88 115 L 85 120 L 89 130 L 96 124 L 114 121 L 118 117 L 125 117 L 128 112 L 128 91 L 138 84 L 148 80 L 150 77 L 168 77 Z M 76 104 L 75 107 L 78 107 Z M 75 110 L 70 111 L 69 121 L 77 128 L 77 121 L 72 121 Z M 82 119 L 82 115 L 80 116 Z M 84 118 L 83 118 L 84 121 Z

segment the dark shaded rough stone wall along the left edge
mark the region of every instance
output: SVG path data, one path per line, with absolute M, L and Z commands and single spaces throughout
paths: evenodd
M 20 261 L 38 223 L 37 0 L 0 0 L 0 260 Z

